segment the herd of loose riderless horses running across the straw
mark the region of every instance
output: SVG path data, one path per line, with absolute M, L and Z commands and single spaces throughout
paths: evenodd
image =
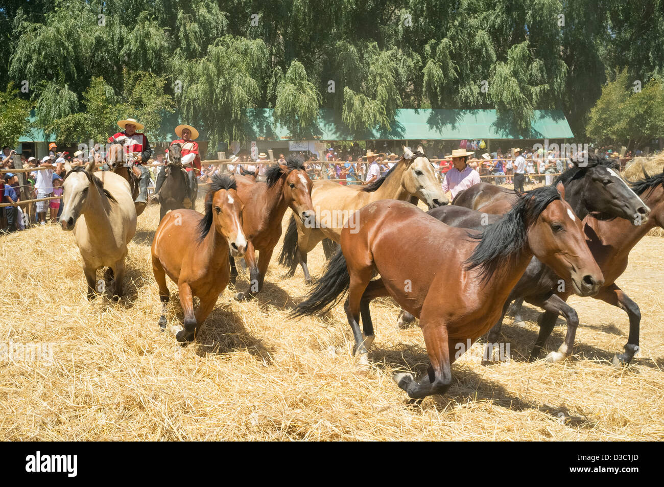
M 176 151 L 169 163 L 177 167 L 177 161 Z M 96 270 L 106 267 L 104 282 L 112 281 L 117 300 L 136 228 L 132 188 L 113 171 L 94 172 L 94 164 L 67 167 L 63 187 L 61 225 L 73 230 L 80 248 L 87 296 L 96 295 Z M 400 323 L 419 319 L 430 358 L 420 381 L 409 373 L 394 376 L 412 399 L 445 393 L 458 343 L 487 334 L 487 346 L 497 342 L 509 305 L 524 300 L 544 310 L 531 359 L 539 357 L 558 315 L 567 320 L 567 334 L 547 359 L 572 353 L 578 316 L 566 300 L 577 294 L 627 312 L 625 353 L 614 360 L 631 361 L 639 349 L 641 316 L 615 281 L 631 248 L 653 227 L 663 227 L 664 173 L 648 175 L 644 168 L 642 179 L 627 182 L 608 159 L 589 154 L 553 185 L 516 193 L 480 183 L 448 203 L 421 146 L 404 147 L 394 167 L 365 187 L 311 181 L 296 156 L 270 167 L 265 182 L 246 174 L 214 175 L 203 213 L 180 206 L 160 215 L 151 247 L 163 305 L 159 328 L 167 324 L 166 276 L 177 283 L 184 320 L 176 337 L 183 345 L 195 340 L 218 296 L 235 283 L 236 258 L 244 258 L 250 282 L 234 298 L 254 298 L 290 208 L 279 258 L 288 274 L 299 265 L 310 283 L 307 253 L 321 241 L 329 258 L 325 274 L 290 318 L 325 313 L 347 295 L 354 351 L 366 362 L 374 340 L 369 305 L 374 298 L 393 298 L 402 308 Z M 323 217 L 331 213 L 343 218 Z

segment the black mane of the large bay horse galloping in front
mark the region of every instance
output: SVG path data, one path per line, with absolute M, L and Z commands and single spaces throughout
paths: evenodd
M 540 213 L 560 193 L 554 186 L 544 186 L 519 194 L 519 200 L 511 211 L 496 223 L 489 225 L 483 233 L 469 237 L 479 241 L 471 256 L 464 262 L 466 269 L 481 267 L 481 280 L 489 280 L 499 269 L 509 269 L 513 261 L 527 244 L 528 228 L 535 223 Z

